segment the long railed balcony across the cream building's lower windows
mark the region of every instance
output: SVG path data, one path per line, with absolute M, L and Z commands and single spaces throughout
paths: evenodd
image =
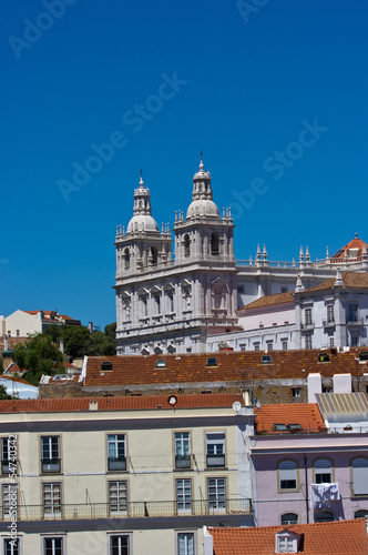
M 154 517 L 176 517 L 181 516 L 206 516 L 216 514 L 249 515 L 252 514 L 252 501 L 243 500 L 201 500 L 185 502 L 176 501 L 150 501 L 130 502 L 115 511 L 116 504 L 109 503 L 84 503 L 73 505 L 57 505 L 51 507 L 42 505 L 19 505 L 17 521 L 83 521 L 98 518 L 154 518 Z M 114 507 L 114 508 L 113 508 Z M 183 511 L 185 508 L 185 511 Z M 1 506 L 1 521 L 9 522 L 9 507 Z

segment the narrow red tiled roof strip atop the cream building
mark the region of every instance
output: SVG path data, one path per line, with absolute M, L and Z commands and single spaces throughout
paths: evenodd
M 178 408 L 221 408 L 231 407 L 235 401 L 244 406 L 239 393 L 216 393 L 212 395 L 177 395 L 172 405 L 168 398 L 173 395 L 146 395 L 130 397 L 64 397 L 64 398 L 28 398 L 19 401 L 0 401 L 1 413 L 33 412 L 79 412 L 89 411 L 90 403 L 98 403 L 99 411 L 141 411 L 141 410 L 178 410 Z

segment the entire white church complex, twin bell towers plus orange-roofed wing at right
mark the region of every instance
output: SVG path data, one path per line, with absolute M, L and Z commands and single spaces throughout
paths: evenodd
M 211 174 L 193 178 L 186 214 L 161 231 L 143 179 L 133 218 L 116 229 L 116 352 L 165 354 L 365 345 L 368 326 L 367 244 L 355 238 L 313 262 L 254 261 L 234 255 L 229 209 L 213 201 Z M 174 243 L 174 249 L 172 248 Z

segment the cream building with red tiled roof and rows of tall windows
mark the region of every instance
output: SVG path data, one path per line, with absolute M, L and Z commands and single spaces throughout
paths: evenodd
M 0 421 L 3 554 L 200 555 L 204 524 L 253 525 L 239 394 L 1 401 Z

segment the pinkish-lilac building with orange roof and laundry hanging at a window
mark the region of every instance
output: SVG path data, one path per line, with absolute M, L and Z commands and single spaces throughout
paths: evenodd
M 256 526 L 368 515 L 367 434 L 323 432 L 316 404 L 264 405 L 256 425 L 251 438 Z

